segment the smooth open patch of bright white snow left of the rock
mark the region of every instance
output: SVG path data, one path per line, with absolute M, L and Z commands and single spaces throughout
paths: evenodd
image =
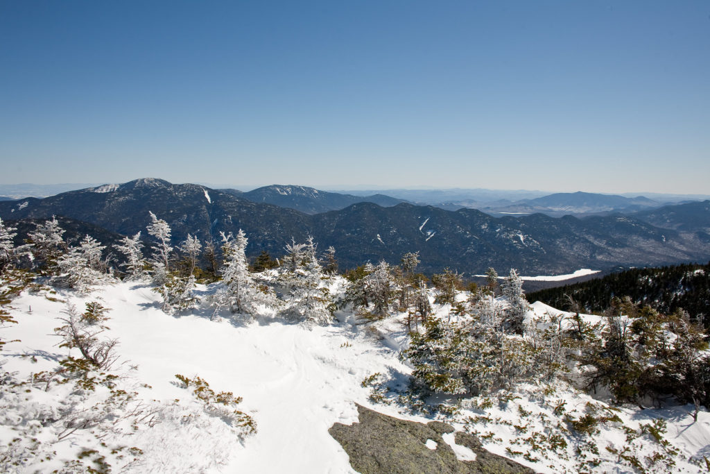
M 83 306 L 72 292 L 59 297 Z M 161 402 L 185 397 L 185 390 L 175 386 L 175 374 L 199 375 L 216 390 L 244 397 L 240 408 L 256 419 L 258 431 L 246 438 L 248 448 L 229 443 L 225 465 L 200 466 L 208 470 L 310 473 L 318 466 L 322 472 L 352 472 L 346 453 L 327 429 L 336 421 L 356 421 L 354 402 L 371 405 L 368 391 L 360 385 L 366 376 L 387 372 L 388 367 L 408 370 L 395 352 L 346 323 L 308 329 L 277 321 L 241 325 L 203 316 L 175 318 L 160 311 L 158 295 L 147 286 L 127 283 L 104 287 L 88 299 L 99 299 L 111 308 L 107 335 L 119 339 L 121 360 L 138 366 L 131 377 L 152 387 L 143 389 L 142 397 Z M 56 347 L 60 338 L 53 334 L 65 304 L 24 294 L 13 301 L 13 307 L 18 324 L 3 334 L 21 343 L 11 343 L 0 352 L 6 360 L 4 370 L 26 376 L 50 370 L 67 352 Z M 40 351 L 47 352 L 36 364 L 17 357 Z M 220 442 L 210 433 L 163 433 L 160 428 L 158 424 L 148 429 L 138 447 L 148 453 L 153 453 L 151 446 L 172 451 L 160 456 L 157 465 L 139 465 L 137 472 L 146 468 L 187 472 L 187 460 L 214 456 L 213 443 Z M 3 441 L 11 436 L 7 430 L 0 433 Z M 180 441 L 176 435 L 188 438 Z M 75 448 L 64 449 L 70 456 Z

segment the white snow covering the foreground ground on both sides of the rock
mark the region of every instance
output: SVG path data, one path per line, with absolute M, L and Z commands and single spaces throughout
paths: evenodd
M 200 290 L 209 291 L 204 287 Z M 409 413 L 404 406 L 371 402 L 369 388 L 361 384 L 376 372 L 392 384 L 402 382 L 411 372 L 398 360 L 398 352 L 408 340 L 403 315 L 363 323 L 350 313 L 337 313 L 337 321 L 331 325 L 312 328 L 275 318 L 246 323 L 229 317 L 211 321 L 209 311 L 168 316 L 160 311 L 158 294 L 146 284 L 111 284 L 89 296 L 78 296 L 74 291 L 23 293 L 11 303 L 11 316 L 18 323 L 1 329 L 3 340 L 20 342 L 8 343 L 0 352 L 4 364 L 0 372 L 32 380 L 33 374 L 58 367 L 58 361 L 68 353 L 58 347 L 61 339 L 54 333 L 54 328 L 62 324 L 58 318 L 63 316 L 67 302 L 83 309 L 87 301 L 99 301 L 111 310 L 106 323 L 110 329 L 101 337 L 119 340 L 117 354 L 122 364 L 115 370 L 123 378 L 116 383 L 135 390 L 136 400 L 160 421 L 152 426 L 138 423 L 136 430 L 116 428 L 115 433 L 103 438 L 109 446 L 131 446 L 143 452 L 126 467 L 128 472 L 351 473 L 354 471 L 347 454 L 327 430 L 335 422 L 356 421 L 355 403 L 392 416 L 429 421 Z M 449 307 L 440 306 L 437 311 L 440 317 L 446 317 Z M 528 316 L 540 317 L 552 311 L 557 310 L 536 303 Z M 199 401 L 178 383 L 177 374 L 190 379 L 201 377 L 215 392 L 243 397 L 239 410 L 256 421 L 256 433 L 239 436 L 224 417 L 200 411 Z M 70 392 L 68 384 L 50 392 L 44 392 L 39 382 L 26 387 L 21 393 L 0 391 L 0 411 L 4 411 L 0 415 L 0 446 L 6 447 L 19 432 L 23 436 L 31 432 L 48 443 L 47 451 L 56 451 L 56 455 L 44 461 L 35 458 L 26 465 L 6 465 L 8 472 L 49 472 L 60 468 L 62 459 L 75 459 L 82 450 L 103 452 L 97 438 L 87 433 L 77 432 L 57 441 L 58 432 L 51 425 L 28 429 L 33 416 L 30 411 L 60 406 L 65 403 L 62 397 L 80 394 Z M 86 394 L 84 402 L 90 404 L 92 397 L 99 395 Z M 545 473 L 578 470 L 574 436 L 564 435 L 564 448 L 549 446 L 551 439 L 557 439 L 552 435 L 557 433 L 555 426 L 562 412 L 573 418 L 590 410 L 618 415 L 618 421 L 600 426 L 594 437 L 603 458 L 595 469 L 598 472 L 633 472 L 616 463 L 620 455 L 606 448 L 621 451 L 629 445 L 635 446 L 635 456 L 653 453 L 657 446 L 648 441 L 648 436 L 640 434 L 627 441 L 623 426 L 637 430 L 659 418 L 667 420 L 666 438 L 680 451 L 676 465 L 659 468 L 658 472 L 703 472 L 704 467 L 683 460 L 710 456 L 710 416 L 706 411 L 693 422 L 687 406 L 613 409 L 564 384 L 524 385 L 509 398 L 469 399 L 454 418 L 444 421 L 478 433 L 490 451 Z M 31 408 L 32 404 L 38 405 Z M 523 441 L 526 438 L 528 441 Z M 530 438 L 543 446 L 542 451 L 530 450 Z M 29 441 L 20 443 L 27 447 Z M 107 456 L 116 471 L 129 460 L 120 455 Z

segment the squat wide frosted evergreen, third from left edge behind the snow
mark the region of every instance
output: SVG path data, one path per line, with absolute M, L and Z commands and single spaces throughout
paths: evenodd
M 105 248 L 94 237 L 84 237 L 79 246 L 71 247 L 69 252 L 59 257 L 59 280 L 80 293 L 86 293 L 91 286 L 107 281 L 109 276 L 101 258 Z

